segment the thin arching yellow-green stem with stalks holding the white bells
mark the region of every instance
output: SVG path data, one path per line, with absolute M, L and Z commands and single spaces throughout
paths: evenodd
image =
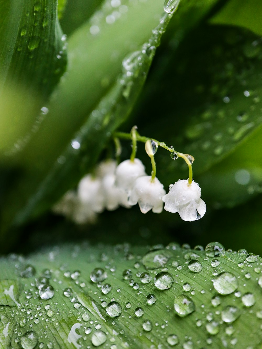
M 136 142 L 143 142 L 145 143 L 147 140 L 149 139 L 152 139 L 154 142 L 156 142 L 158 144 L 158 146 L 166 149 L 166 150 L 169 150 L 170 153 L 176 153 L 178 157 L 181 157 L 185 160 L 185 162 L 187 163 L 188 165 L 188 170 L 189 170 L 189 176 L 188 176 L 188 183 L 191 184 L 192 183 L 192 180 L 193 180 L 193 169 L 192 169 L 192 163 L 190 162 L 190 160 L 188 159 L 187 155 L 186 154 L 183 154 L 183 153 L 180 153 L 179 151 L 175 151 L 173 148 L 170 148 L 166 145 L 165 142 L 159 142 L 157 141 L 156 139 L 154 138 L 149 138 L 149 137 L 145 137 L 145 136 L 141 136 L 137 131 L 136 131 L 136 126 L 134 126 L 131 130 L 130 133 L 126 133 L 126 132 L 115 132 L 113 134 L 114 137 L 117 137 L 117 138 L 120 138 L 120 139 L 127 139 L 127 140 L 132 140 L 133 141 L 133 150 L 132 150 L 132 154 L 131 154 L 131 157 L 130 157 L 130 160 L 131 161 L 134 161 L 134 158 L 135 158 L 135 154 L 136 154 Z M 134 143 L 134 140 L 135 140 L 135 143 Z M 135 144 L 135 146 L 134 146 Z M 133 155 L 134 153 L 134 155 Z M 132 157 L 133 156 L 133 157 Z M 154 162 L 154 165 L 153 165 L 153 162 Z M 152 163 L 152 172 L 154 173 L 154 166 L 156 166 L 156 163 L 155 163 L 155 159 L 153 157 L 153 159 L 151 158 L 151 163 Z M 156 172 L 156 170 L 155 170 Z M 156 176 L 156 174 L 155 174 Z M 155 178 L 154 176 L 154 178 Z M 153 174 L 152 174 L 152 179 L 153 179 Z

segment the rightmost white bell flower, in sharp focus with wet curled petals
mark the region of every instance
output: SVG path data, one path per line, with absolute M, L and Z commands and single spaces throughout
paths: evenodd
M 189 184 L 187 179 L 179 179 L 163 196 L 165 210 L 178 212 L 184 221 L 196 221 L 203 217 L 207 209 L 205 202 L 200 198 L 201 188 L 194 181 Z

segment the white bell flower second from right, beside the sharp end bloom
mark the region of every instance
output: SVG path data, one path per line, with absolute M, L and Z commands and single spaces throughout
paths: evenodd
M 138 202 L 142 213 L 147 213 L 151 209 L 154 213 L 161 213 L 162 197 L 165 193 L 163 184 L 157 178 L 151 181 L 151 176 L 142 176 L 135 180 L 128 203 L 136 205 Z

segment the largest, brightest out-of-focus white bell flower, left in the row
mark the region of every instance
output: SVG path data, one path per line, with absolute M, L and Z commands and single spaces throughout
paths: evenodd
M 91 174 L 84 176 L 77 188 L 79 200 L 87 207 L 91 207 L 96 213 L 101 213 L 104 209 L 104 194 L 102 181 L 100 178 L 94 178 Z

